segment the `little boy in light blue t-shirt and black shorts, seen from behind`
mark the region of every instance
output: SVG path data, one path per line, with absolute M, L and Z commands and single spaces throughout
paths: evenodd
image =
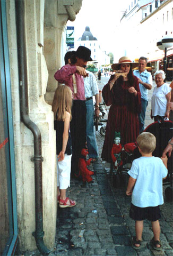
M 132 195 L 129 216 L 135 220 L 136 237 L 132 239 L 132 247 L 140 249 L 143 231 L 143 220 L 151 221 L 154 237 L 152 246 L 161 250 L 160 242 L 160 209 L 163 204 L 162 180 L 166 179 L 168 158 L 154 157 L 152 153 L 156 146 L 155 136 L 143 132 L 137 137 L 137 147 L 141 157 L 132 163 L 126 195 Z

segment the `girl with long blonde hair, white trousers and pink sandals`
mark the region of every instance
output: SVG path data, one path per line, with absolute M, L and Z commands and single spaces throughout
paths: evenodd
M 69 130 L 72 108 L 72 91 L 66 85 L 58 85 L 52 109 L 54 112 L 54 129 L 56 130 L 57 153 L 57 193 L 60 208 L 73 207 L 76 202 L 66 197 L 70 187 L 72 142 Z

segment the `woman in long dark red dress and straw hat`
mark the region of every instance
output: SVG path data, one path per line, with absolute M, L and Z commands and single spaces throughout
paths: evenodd
M 141 92 L 139 82 L 133 75 L 132 69 L 138 63 L 132 62 L 128 57 L 122 57 L 118 63 L 113 64 L 109 82 L 103 87 L 102 97 L 107 106 L 110 106 L 106 126 L 105 142 L 101 158 L 111 161 L 110 151 L 114 143 L 115 132 L 120 132 L 122 145 L 136 141 L 139 135 L 138 113 L 141 113 Z

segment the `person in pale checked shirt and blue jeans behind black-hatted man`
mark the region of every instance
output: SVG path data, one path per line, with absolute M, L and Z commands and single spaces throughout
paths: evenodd
M 88 77 L 84 78 L 85 88 L 85 105 L 86 105 L 86 141 L 89 152 L 89 157 L 93 158 L 92 162 L 96 162 L 99 153 L 96 141 L 96 134 L 94 132 L 94 115 L 99 116 L 99 89 L 94 74 L 87 70 Z M 93 96 L 96 103 L 93 106 Z

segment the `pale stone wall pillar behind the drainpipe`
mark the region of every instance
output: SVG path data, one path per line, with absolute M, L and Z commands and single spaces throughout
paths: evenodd
M 37 246 L 32 236 L 32 232 L 35 231 L 34 163 L 31 162 L 33 134 L 20 121 L 15 4 L 13 0 L 6 2 L 20 249 L 34 250 Z M 25 0 L 29 116 L 41 131 L 42 157 L 44 157 L 42 162 L 44 242 L 48 249 L 53 249 L 57 212 L 56 134 L 51 106 L 44 99 L 48 81 L 48 70 L 42 53 L 44 7 L 44 0 Z

